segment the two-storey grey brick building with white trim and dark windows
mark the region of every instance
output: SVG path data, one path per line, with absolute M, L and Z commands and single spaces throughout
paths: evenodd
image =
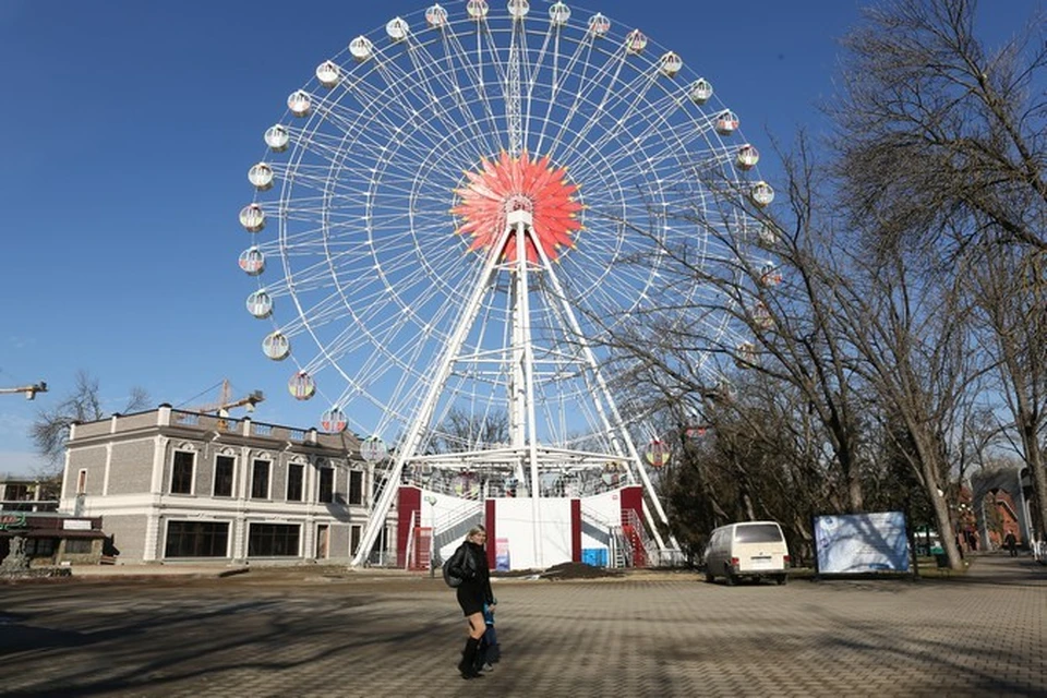
M 117 564 L 348 562 L 374 490 L 359 446 L 168 405 L 115 414 L 71 429 L 60 510 L 103 517 Z

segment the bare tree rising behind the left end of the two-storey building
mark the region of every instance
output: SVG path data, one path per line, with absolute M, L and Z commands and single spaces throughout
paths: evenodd
M 144 388 L 132 387 L 123 412 L 133 412 L 148 407 L 151 400 Z M 50 409 L 40 410 L 29 429 L 38 453 L 52 467 L 58 466 L 65 453 L 69 428 L 81 422 L 105 419 L 98 380 L 86 371 L 76 373 L 73 390 Z

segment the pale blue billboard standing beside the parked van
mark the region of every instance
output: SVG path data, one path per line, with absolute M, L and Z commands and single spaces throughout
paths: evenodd
M 815 517 L 820 574 L 908 571 L 908 538 L 901 512 Z

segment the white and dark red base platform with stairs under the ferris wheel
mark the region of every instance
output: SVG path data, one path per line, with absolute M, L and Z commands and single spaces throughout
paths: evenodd
M 565 562 L 646 567 L 643 491 L 627 485 L 585 497 L 468 500 L 416 485 L 397 494 L 397 567 L 429 569 L 469 531 L 488 532 L 492 570 L 544 569 Z

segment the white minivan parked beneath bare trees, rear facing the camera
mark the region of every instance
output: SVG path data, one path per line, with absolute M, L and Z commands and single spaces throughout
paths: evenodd
M 774 521 L 744 521 L 721 526 L 709 537 L 702 555 L 706 581 L 717 577 L 733 586 L 739 577 L 787 581 L 789 546 Z

